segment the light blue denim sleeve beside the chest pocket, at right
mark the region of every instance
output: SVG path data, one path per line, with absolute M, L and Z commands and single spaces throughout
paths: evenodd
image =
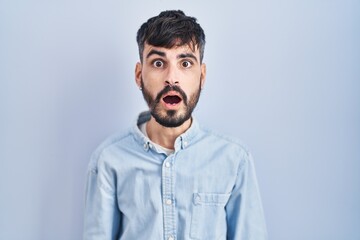
M 245 153 L 226 205 L 227 239 L 266 240 L 267 230 L 252 156 Z

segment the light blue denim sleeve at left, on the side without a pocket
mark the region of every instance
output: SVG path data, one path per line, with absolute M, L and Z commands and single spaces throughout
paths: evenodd
M 116 239 L 120 211 L 116 192 L 111 189 L 110 173 L 104 169 L 89 169 L 86 195 L 83 240 Z

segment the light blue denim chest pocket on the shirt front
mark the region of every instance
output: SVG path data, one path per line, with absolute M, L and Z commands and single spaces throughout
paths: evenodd
M 226 239 L 225 206 L 230 193 L 194 193 L 191 239 Z

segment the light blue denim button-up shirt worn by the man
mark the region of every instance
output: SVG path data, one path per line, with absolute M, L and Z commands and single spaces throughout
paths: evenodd
M 84 240 L 267 239 L 249 152 L 193 119 L 166 155 L 138 128 L 149 118 L 94 152 Z

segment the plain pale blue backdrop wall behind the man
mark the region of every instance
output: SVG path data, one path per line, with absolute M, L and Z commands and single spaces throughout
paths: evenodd
M 360 239 L 360 1 L 0 0 L 0 239 L 78 240 L 89 157 L 146 109 L 136 31 L 205 30 L 199 121 L 251 150 L 273 240 Z

